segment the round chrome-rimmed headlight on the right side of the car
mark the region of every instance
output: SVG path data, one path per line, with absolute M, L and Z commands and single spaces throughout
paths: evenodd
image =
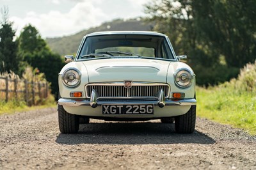
M 180 88 L 188 88 L 193 81 L 193 74 L 189 70 L 178 70 L 175 75 L 175 84 Z

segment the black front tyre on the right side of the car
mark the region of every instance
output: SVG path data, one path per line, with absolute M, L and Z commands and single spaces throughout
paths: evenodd
M 175 117 L 175 130 L 181 134 L 191 134 L 195 131 L 196 105 L 191 105 L 186 114 Z

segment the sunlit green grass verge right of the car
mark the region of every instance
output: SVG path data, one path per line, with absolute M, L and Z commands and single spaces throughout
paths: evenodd
M 197 112 L 203 118 L 243 128 L 256 135 L 256 95 L 232 86 L 196 88 Z

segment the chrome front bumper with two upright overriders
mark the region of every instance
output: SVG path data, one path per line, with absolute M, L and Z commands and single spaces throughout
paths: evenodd
M 92 91 L 90 99 L 81 99 L 81 98 L 60 98 L 58 100 L 59 105 L 64 105 L 68 107 L 76 106 L 88 106 L 95 108 L 99 105 L 104 104 L 154 104 L 159 107 L 164 107 L 165 105 L 196 105 L 195 98 L 182 98 L 182 99 L 166 99 L 164 97 L 163 89 L 160 89 L 157 93 L 157 96 L 154 98 L 101 98 L 98 97 L 98 93 L 95 89 Z

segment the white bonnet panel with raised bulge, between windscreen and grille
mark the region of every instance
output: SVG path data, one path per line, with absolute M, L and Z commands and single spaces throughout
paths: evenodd
M 89 82 L 132 80 L 139 82 L 166 82 L 170 62 L 153 59 L 100 59 L 83 62 Z

